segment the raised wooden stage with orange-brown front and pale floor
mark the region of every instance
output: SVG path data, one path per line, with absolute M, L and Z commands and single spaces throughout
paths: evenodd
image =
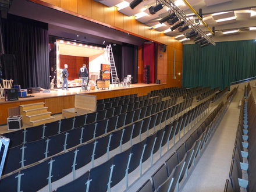
M 103 89 L 95 89 L 91 91 L 80 91 L 80 87 L 69 88 L 68 91 L 57 89 L 56 91 L 51 91 L 51 93 L 35 93 L 28 94 L 34 95 L 34 97 L 29 98 L 19 98 L 17 101 L 5 101 L 4 98 L 0 99 L 0 125 L 7 122 L 9 116 L 8 109 L 16 108 L 19 105 L 31 104 L 36 102 L 44 102 L 45 106 L 48 107 L 48 111 L 52 114 L 62 113 L 62 109 L 73 108 L 74 107 L 74 95 L 75 94 L 90 94 L 96 95 L 97 99 L 118 97 L 128 94 L 138 94 L 138 96 L 146 95 L 152 90 L 158 90 L 161 88 L 166 88 L 166 84 L 144 84 L 137 83 L 131 84 L 130 87 L 118 87 L 111 86 Z

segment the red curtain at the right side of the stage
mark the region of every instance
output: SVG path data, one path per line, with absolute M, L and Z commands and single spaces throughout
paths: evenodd
M 144 67 L 150 66 L 150 83 L 155 83 L 155 44 L 154 42 L 146 43 L 143 48 Z

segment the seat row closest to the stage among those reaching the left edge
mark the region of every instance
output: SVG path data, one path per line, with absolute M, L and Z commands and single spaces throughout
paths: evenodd
M 74 129 L 76 127 L 88 125 L 90 123 L 108 119 L 112 116 L 117 116 L 130 111 L 137 110 L 136 114 L 139 114 L 140 116 L 143 116 L 143 112 L 146 112 L 145 115 L 148 116 L 150 115 L 151 111 L 145 111 L 145 106 L 152 105 L 152 112 L 155 112 L 157 108 L 167 108 L 169 106 L 175 105 L 177 102 L 177 98 L 168 99 L 166 102 L 160 102 L 159 100 L 161 100 L 161 97 L 159 97 L 160 99 L 158 97 L 155 98 L 145 99 L 143 101 L 138 102 L 132 102 L 131 104 L 123 104 L 106 110 L 88 113 L 86 115 L 75 116 L 74 118 L 61 119 L 55 122 L 46 123 L 45 125 L 29 127 L 27 129 L 5 133 L 3 134 L 3 136 L 10 138 L 9 148 L 12 148 L 16 147 L 17 145 L 21 145 L 35 140 L 40 140 L 41 138 L 63 133 L 67 130 Z M 160 104 L 161 106 L 159 106 Z M 109 124 L 109 126 L 111 125 L 112 123 Z M 108 127 L 108 130 L 109 129 L 111 129 L 111 127 Z

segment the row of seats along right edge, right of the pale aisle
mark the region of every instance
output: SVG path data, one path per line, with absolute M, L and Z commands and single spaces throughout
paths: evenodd
M 232 155 L 229 179 L 233 191 L 255 191 L 255 136 L 256 136 L 256 105 L 252 94 L 243 98 L 237 126 L 236 141 Z M 229 189 L 227 181 L 225 190 Z

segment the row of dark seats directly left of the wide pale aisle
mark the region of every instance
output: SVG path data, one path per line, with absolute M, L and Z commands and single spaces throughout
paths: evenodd
M 179 191 L 200 159 L 226 109 L 226 104 L 219 104 L 208 116 L 208 120 L 205 120 L 151 176 L 152 183 L 150 179 L 147 180 L 137 192 Z

